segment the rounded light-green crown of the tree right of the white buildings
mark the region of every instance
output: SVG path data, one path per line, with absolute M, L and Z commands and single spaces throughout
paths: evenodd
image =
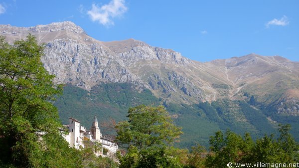
M 123 148 L 135 146 L 143 150 L 165 146 L 182 134 L 163 106 L 140 105 L 130 108 L 127 117 L 129 121 L 122 121 L 116 126 L 116 139 Z

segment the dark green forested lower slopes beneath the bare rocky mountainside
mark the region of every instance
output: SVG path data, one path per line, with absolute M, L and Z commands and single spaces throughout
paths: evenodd
M 215 102 L 186 104 L 164 104 L 174 122 L 182 127 L 184 134 L 176 144 L 181 148 L 190 148 L 201 144 L 208 146 L 208 140 L 218 130 L 230 129 L 243 135 L 249 132 L 257 138 L 264 134 L 274 133 L 278 123 L 271 123 L 263 111 L 256 109 L 245 101 L 231 101 L 219 99 Z M 86 91 L 72 85 L 64 87 L 63 95 L 57 99 L 55 106 L 60 112 L 64 124 L 68 117 L 78 119 L 87 129 L 90 128 L 93 117 L 96 115 L 99 122 L 109 118 L 116 121 L 125 120 L 128 108 L 139 104 L 159 105 L 160 101 L 147 89 L 137 91 L 132 84 L 112 83 L 100 84 Z M 298 140 L 299 120 L 291 117 L 271 116 L 282 123 L 291 123 L 293 135 Z M 105 133 L 104 133 L 105 134 Z

